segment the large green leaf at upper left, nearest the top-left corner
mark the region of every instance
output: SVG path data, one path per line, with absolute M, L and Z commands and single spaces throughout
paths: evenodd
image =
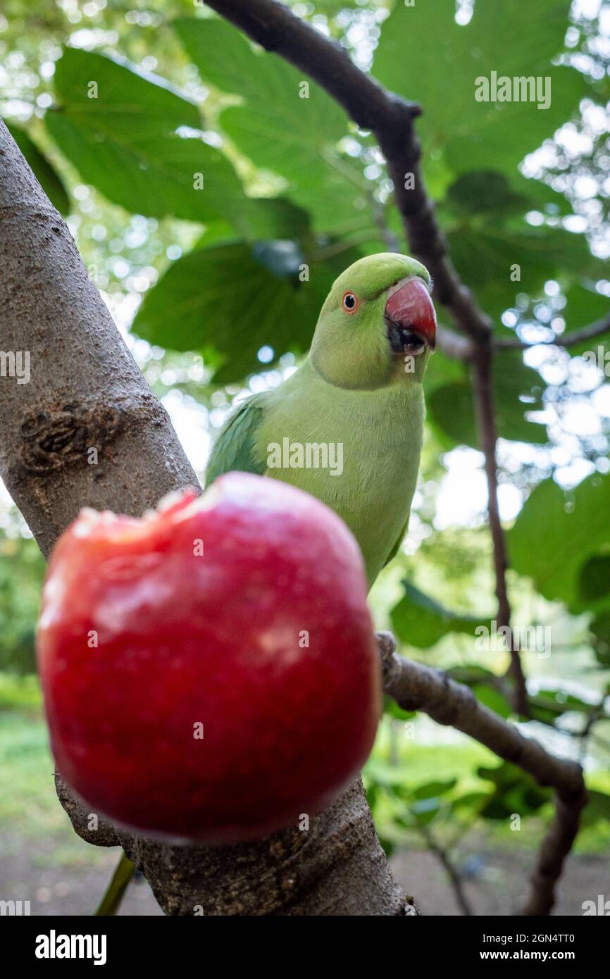
M 233 166 L 203 139 L 178 134 L 200 128 L 199 110 L 161 79 L 68 48 L 55 82 L 60 105 L 47 113 L 49 132 L 110 201 L 154 217 L 239 222 L 251 203 Z

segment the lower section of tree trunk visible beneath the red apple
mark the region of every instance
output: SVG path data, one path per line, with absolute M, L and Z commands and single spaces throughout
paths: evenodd
M 58 795 L 76 833 L 97 846 L 121 846 L 144 869 L 165 914 L 398 915 L 417 909 L 394 879 L 358 779 L 332 806 L 297 826 L 223 847 L 170 846 L 114 828 L 90 828 L 56 775 Z

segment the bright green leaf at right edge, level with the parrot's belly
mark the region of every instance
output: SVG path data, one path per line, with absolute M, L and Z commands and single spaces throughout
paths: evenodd
M 540 594 L 574 611 L 592 607 L 581 592 L 581 567 L 610 547 L 610 477 L 589 476 L 569 496 L 544 480 L 526 500 L 508 533 L 511 566 L 532 578 Z

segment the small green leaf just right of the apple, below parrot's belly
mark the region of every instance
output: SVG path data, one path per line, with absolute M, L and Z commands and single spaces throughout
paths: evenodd
M 402 587 L 404 594 L 390 614 L 392 628 L 402 642 L 428 649 L 448 632 L 475 634 L 479 619 L 449 612 L 409 582 L 402 582 Z

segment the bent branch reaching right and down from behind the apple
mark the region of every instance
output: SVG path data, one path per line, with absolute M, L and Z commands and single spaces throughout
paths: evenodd
M 456 727 L 490 748 L 499 758 L 518 765 L 539 785 L 555 790 L 555 817 L 542 841 L 532 889 L 522 914 L 548 914 L 563 862 L 579 829 L 587 804 L 583 770 L 576 762 L 549 755 L 536 741 L 493 714 L 469 687 L 456 683 L 440 670 L 396 654 L 389 632 L 379 632 L 384 688 L 405 711 L 425 711 L 433 721 Z

